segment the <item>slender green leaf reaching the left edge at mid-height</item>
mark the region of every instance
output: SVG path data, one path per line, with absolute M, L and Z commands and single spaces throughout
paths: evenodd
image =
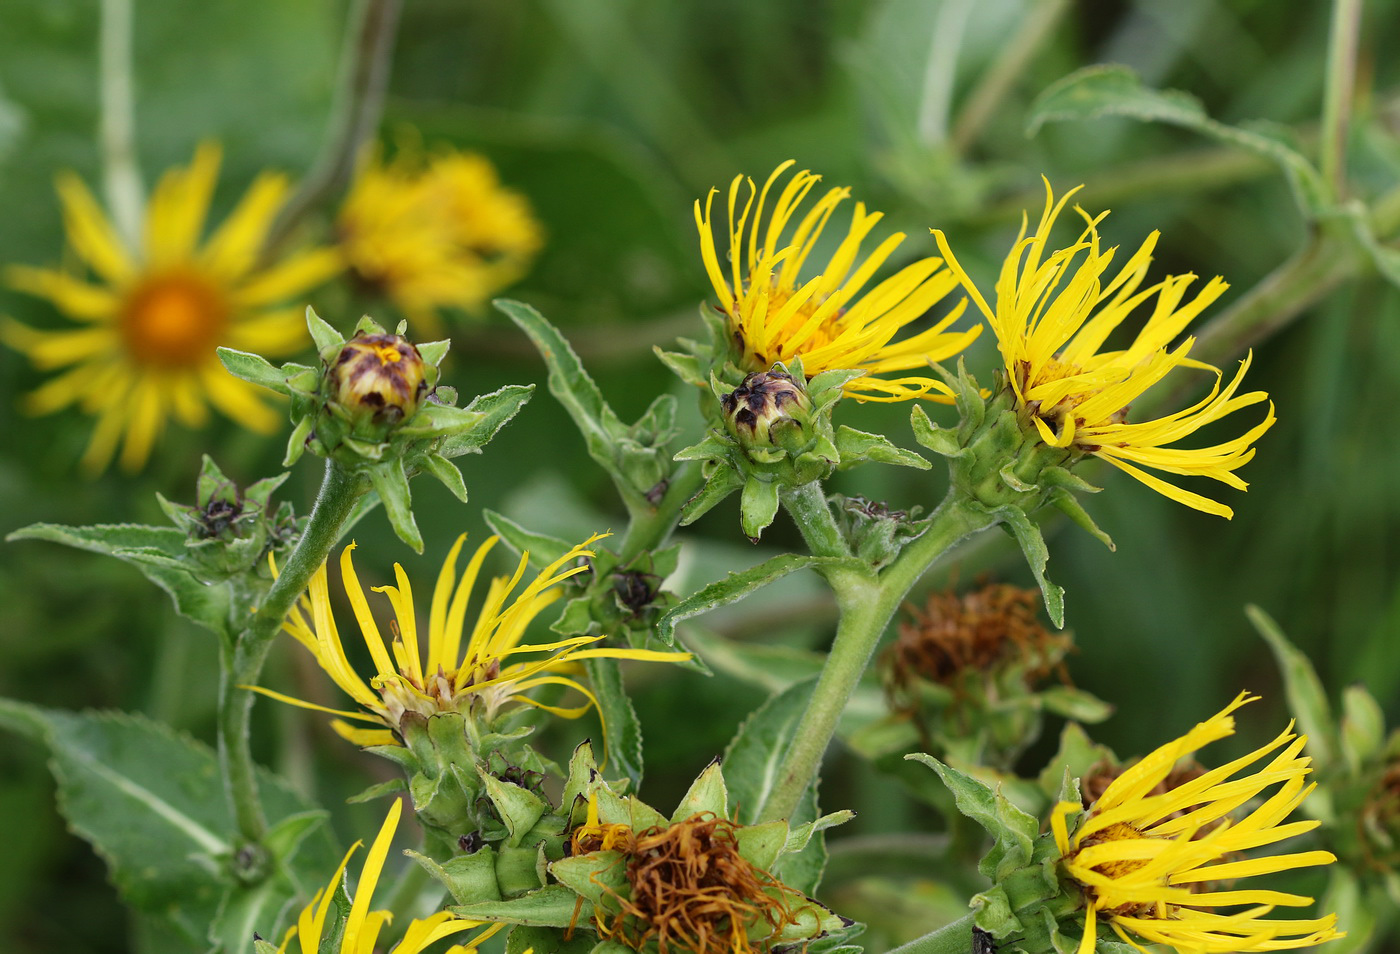
M 214 633 L 223 635 L 228 630 L 228 587 L 207 586 L 185 569 L 181 562 L 185 555 L 185 534 L 174 527 L 34 524 L 14 531 L 6 539 L 45 539 L 91 553 L 115 556 L 134 566 L 147 580 L 164 590 L 179 615 Z

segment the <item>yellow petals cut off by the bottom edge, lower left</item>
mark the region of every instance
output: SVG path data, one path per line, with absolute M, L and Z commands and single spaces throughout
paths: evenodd
M 370 846 L 370 853 L 364 859 L 364 867 L 360 869 L 360 881 L 356 884 L 354 899 L 350 902 L 350 916 L 346 919 L 340 947 L 336 948 L 337 954 L 374 954 L 379 932 L 392 919 L 388 911 L 370 911 L 370 902 L 374 898 L 374 888 L 379 883 L 379 876 L 384 873 L 384 862 L 389 855 L 389 843 L 393 841 L 393 832 L 399 827 L 399 815 L 402 814 L 403 803 L 395 799 L 389 807 L 389 814 L 384 820 L 384 825 L 379 828 L 379 835 L 374 839 L 374 845 Z M 277 948 L 279 954 L 286 954 L 293 937 L 297 939 L 297 947 L 301 954 L 316 954 L 321 950 L 321 936 L 326 930 L 330 901 L 340 887 L 340 878 L 350 863 L 350 856 L 360 849 L 361 843 L 356 842 L 350 846 L 344 860 L 340 862 L 336 873 L 330 876 L 326 887 L 318 891 L 311 904 L 302 909 L 301 916 L 297 918 L 297 923 L 283 937 L 281 947 Z M 392 954 L 420 954 L 420 951 L 444 937 L 461 934 L 465 930 L 479 927 L 480 923 L 477 920 L 456 919 L 451 912 L 440 911 L 431 918 L 421 918 L 409 923 L 407 930 L 403 933 L 403 940 L 393 947 Z M 501 927 L 504 925 L 493 925 L 473 937 L 469 946 L 455 944 L 447 954 L 468 954 L 468 951 L 475 951 L 477 944 L 497 933 Z

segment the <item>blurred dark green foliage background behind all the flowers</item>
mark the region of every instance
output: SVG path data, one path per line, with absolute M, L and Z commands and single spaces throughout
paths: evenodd
M 328 125 L 349 14 L 333 0 L 134 0 L 147 185 L 203 139 L 225 148 L 213 220 L 260 170 L 304 175 Z M 903 255 L 931 254 L 927 228 L 937 226 L 987 282 L 1021 209 L 1039 209 L 1039 177 L 1057 189 L 1084 182 L 1086 209 L 1114 210 L 1107 241 L 1135 248 L 1161 228 L 1154 275 L 1224 275 L 1232 289 L 1217 311 L 1228 308 L 1308 238 L 1277 168 L 1189 130 L 1130 119 L 1046 125 L 1030 137 L 1030 104 L 1075 69 L 1124 63 L 1147 85 L 1190 91 L 1217 119 L 1267 119 L 1312 150 L 1329 15 L 1320 3 L 1292 4 L 1284 15 L 1270 0 L 412 0 L 381 139 L 477 150 L 529 198 L 546 245 L 510 294 L 564 329 L 630 420 L 658 391 L 683 395 L 651 346 L 700 331 L 694 310 L 708 289 L 692 200 L 790 157 L 885 210 L 910 234 Z M 59 261 L 53 175 L 71 168 L 99 182 L 98 22 L 97 0 L 0 4 L 0 262 Z M 1400 60 L 1385 53 L 1400 42 L 1397 4 L 1368 3 L 1361 35 L 1347 171 L 1351 195 L 1372 200 L 1400 181 Z M 322 209 L 309 230 L 328 230 L 332 216 L 333 207 Z M 1067 590 L 1079 646 L 1070 670 L 1117 707 L 1095 738 L 1121 755 L 1165 741 L 1240 688 L 1261 692 L 1260 709 L 1271 709 L 1245 720 L 1240 748 L 1285 717 L 1274 665 L 1243 618 L 1246 602 L 1281 621 L 1334 691 L 1364 682 L 1392 721 L 1400 717 L 1400 297 L 1365 269 L 1355 273 L 1256 349 L 1252 384 L 1273 395 L 1280 423 L 1243 472 L 1250 492 L 1228 499 L 1233 523 L 1099 472 L 1091 476 L 1107 489 L 1086 506 L 1117 552 L 1079 532 L 1051 539 L 1050 572 Z M 342 329 L 365 307 L 347 284 L 325 287 L 312 304 Z M 3 293 L 0 310 L 35 326 L 62 325 L 50 305 L 27 296 Z M 455 315 L 451 335 L 445 380 L 468 395 L 543 380 L 524 335 L 498 314 Z M 984 339 L 969 366 L 986 374 L 994 354 Z M 279 469 L 284 434 L 263 438 L 220 420 L 199 433 L 174 427 L 140 475 L 85 481 L 74 464 L 90 419 L 18 410 L 18 395 L 39 380 L 24 356 L 0 352 L 6 532 L 41 520 L 162 523 L 154 493 L 192 499 L 202 452 L 239 483 Z M 911 444 L 907 408 L 840 413 Z M 697 427 L 693 413 L 689 427 Z M 416 485 L 424 558 L 378 514 L 356 528 L 363 574 L 385 580 L 395 560 L 417 579 L 434 574 L 456 534 L 486 532 L 483 507 L 570 538 L 622 524 L 605 476 L 543 388 L 463 471 L 466 507 L 440 486 Z M 302 461 L 281 496 L 305 511 L 318 479 Z M 836 489 L 909 507 L 935 503 L 944 486 L 938 468 L 867 468 Z M 735 510 L 731 499 L 692 528 L 672 588 L 686 593 L 799 546 L 784 520 L 750 546 Z M 213 738 L 216 647 L 133 569 L 32 542 L 7 545 L 0 567 L 0 693 L 140 710 Z M 1029 579 L 1018 553 L 995 541 L 948 570 L 963 581 L 983 572 Z M 812 577 L 699 622 L 734 640 L 820 649 L 832 619 Z M 330 700 L 322 674 L 290 650 L 274 654 L 267 681 Z M 722 749 L 756 695 L 722 671 L 706 679 L 654 670 L 629 678 L 647 731 L 644 794 L 669 804 Z M 552 727 L 556 738 L 545 748 L 563 756 L 589 726 Z M 379 810 L 343 800 L 365 772 L 385 777 L 385 765 L 333 738 L 315 716 L 263 702 L 255 727 L 260 756 L 332 806 L 337 831 L 354 832 L 344 841 L 370 832 Z M 1057 728 L 1026 755 L 1026 772 L 1054 749 Z M 140 925 L 125 920 L 101 862 L 64 832 L 52 794 L 42 754 L 7 738 L 0 947 L 132 948 Z M 918 933 L 960 908 L 966 895 L 948 885 L 899 883 L 897 873 L 858 877 L 861 845 L 937 825 L 896 783 L 834 751 L 823 806 L 860 813 L 833 836 L 833 897 L 869 911 L 885 905 L 890 925 L 875 926 L 888 927 L 886 937 Z

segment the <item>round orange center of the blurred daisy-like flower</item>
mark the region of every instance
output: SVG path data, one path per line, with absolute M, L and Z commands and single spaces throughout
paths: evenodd
M 213 357 L 228 318 L 221 289 L 190 272 L 167 272 L 126 296 L 120 331 L 137 363 L 182 368 Z

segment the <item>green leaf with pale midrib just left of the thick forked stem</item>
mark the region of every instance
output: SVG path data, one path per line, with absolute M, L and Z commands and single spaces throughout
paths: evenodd
M 763 818 L 813 688 L 815 677 L 770 696 L 739 724 L 724 749 L 724 777 L 741 825 L 755 825 Z

